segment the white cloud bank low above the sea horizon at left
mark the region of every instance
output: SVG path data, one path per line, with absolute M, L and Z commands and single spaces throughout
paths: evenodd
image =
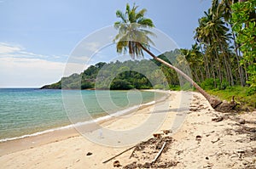
M 66 64 L 49 58 L 61 56 L 33 54 L 20 46 L 0 42 L 0 87 L 42 87 L 84 70 L 82 64 Z

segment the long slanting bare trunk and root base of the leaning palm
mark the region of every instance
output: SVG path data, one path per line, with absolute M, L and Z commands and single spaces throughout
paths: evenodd
M 183 78 L 185 78 L 187 81 L 189 81 L 198 90 L 198 92 L 200 92 L 208 100 L 208 102 L 211 104 L 211 106 L 212 106 L 212 108 L 214 110 L 218 110 L 220 112 L 227 112 L 227 111 L 233 110 L 236 107 L 236 102 L 234 101 L 234 99 L 230 103 L 224 103 L 223 101 L 221 101 L 221 100 L 219 100 L 219 99 L 217 99 L 215 97 L 212 97 L 210 94 L 208 94 L 206 91 L 204 91 L 196 82 L 194 82 L 193 79 L 191 79 L 189 76 L 187 76 L 185 73 L 183 73 L 182 70 L 179 70 L 179 69 L 177 69 L 177 67 L 167 63 L 165 60 L 156 57 L 154 54 L 152 54 L 148 50 L 148 48 L 145 48 L 139 42 L 137 42 L 137 43 L 153 59 L 159 61 L 160 63 L 162 63 L 162 64 L 164 64 L 166 66 L 168 66 L 172 70 L 175 70 L 179 75 L 183 76 Z

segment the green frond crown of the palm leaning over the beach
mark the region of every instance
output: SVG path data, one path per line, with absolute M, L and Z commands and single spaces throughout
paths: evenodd
M 154 33 L 148 31 L 148 28 L 154 27 L 153 21 L 144 18 L 147 12 L 145 8 L 137 12 L 138 6 L 126 4 L 125 13 L 120 10 L 116 12 L 116 16 L 120 19 L 114 23 L 114 27 L 119 30 L 119 34 L 113 39 L 117 42 L 116 48 L 119 54 L 126 54 L 127 49 L 131 58 L 135 56 L 143 56 L 143 48 L 149 48 L 149 44 L 153 44 L 148 35 L 154 36 Z

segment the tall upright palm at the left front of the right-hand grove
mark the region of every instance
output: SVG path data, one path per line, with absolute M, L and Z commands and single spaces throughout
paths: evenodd
M 214 52 L 215 54 L 215 59 L 218 62 L 216 64 L 217 68 L 221 66 L 221 59 L 223 60 L 226 80 L 228 80 L 230 86 L 234 86 L 234 78 L 230 66 L 230 54 L 225 50 L 226 48 L 230 48 L 228 42 L 230 42 L 231 38 L 229 28 L 222 19 L 222 5 L 219 5 L 218 0 L 214 0 L 212 1 L 212 8 L 209 8 L 204 14 L 205 16 L 199 20 L 199 27 L 195 30 L 195 39 L 203 43 L 207 50 L 214 50 L 211 53 Z M 216 70 L 218 71 L 218 78 L 222 82 L 221 67 Z

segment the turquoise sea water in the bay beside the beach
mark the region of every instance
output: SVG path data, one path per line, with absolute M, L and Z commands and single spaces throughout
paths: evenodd
M 0 142 L 71 124 L 104 119 L 154 103 L 163 93 L 146 91 L 40 90 L 0 88 Z

